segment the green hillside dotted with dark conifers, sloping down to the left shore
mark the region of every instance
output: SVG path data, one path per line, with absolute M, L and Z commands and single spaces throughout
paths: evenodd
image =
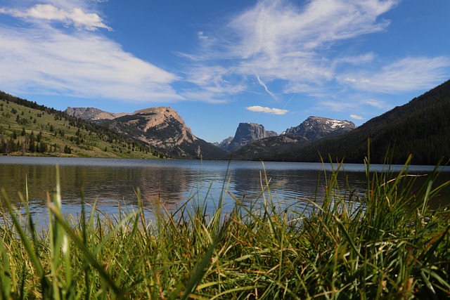
M 145 143 L 0 92 L 0 153 L 61 157 L 163 157 Z

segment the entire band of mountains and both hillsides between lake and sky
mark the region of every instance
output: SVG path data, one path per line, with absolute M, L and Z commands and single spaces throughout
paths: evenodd
M 79 148 L 75 155 L 96 151 L 98 156 L 98 150 L 103 149 L 105 154 L 122 156 L 139 150 L 141 155 L 150 152 L 160 157 L 297 162 L 320 162 L 330 157 L 361 163 L 370 154 L 374 163 L 387 159 L 402 164 L 412 154 L 413 164 L 436 164 L 450 154 L 450 81 L 357 128 L 346 120 L 309 117 L 278 134 L 266 131 L 262 124 L 246 122 L 238 124 L 235 136 L 214 145 L 194 136 L 170 107 L 120 114 L 94 107 L 68 107 L 60 112 L 4 92 L 0 92 L 0 100 L 4 101 L 0 107 L 0 151 L 5 154 L 37 148 L 38 144 L 30 143 L 34 129 L 41 131 L 41 151 L 50 149 L 51 155 L 61 153 L 58 143 L 67 143 L 68 149 Z M 12 103 L 8 105 L 8 101 Z M 53 116 L 55 122 L 47 115 Z M 20 141 L 16 137 L 19 130 L 25 136 Z

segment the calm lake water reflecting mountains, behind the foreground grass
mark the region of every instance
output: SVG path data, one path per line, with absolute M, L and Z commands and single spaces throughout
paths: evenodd
M 0 157 L 0 187 L 5 188 L 11 201 L 20 204 L 18 192 L 25 195 L 28 186 L 29 204 L 33 214 L 46 217 L 47 192 L 55 190 L 56 165 L 60 169 L 60 187 L 63 209 L 76 216 L 81 209 L 80 190 L 84 188 L 84 200 L 106 214 L 114 214 L 117 207 L 136 207 L 136 190 L 141 191 L 144 205 L 150 209 L 160 201 L 169 211 L 174 211 L 186 200 L 206 201 L 214 210 L 214 204 L 223 197 L 225 209 L 231 209 L 236 198 L 245 195 L 245 202 L 262 202 L 265 184 L 264 171 L 269 178 L 271 195 L 277 202 L 303 209 L 304 199 L 320 202 L 325 191 L 326 176 L 330 176 L 330 164 L 295 162 L 225 162 L 167 159 L 97 159 L 59 157 Z M 335 166 L 336 167 L 336 166 Z M 399 171 L 402 166 L 392 166 Z M 386 169 L 372 165 L 372 170 Z M 429 174 L 433 167 L 411 166 L 410 174 Z M 364 164 L 345 164 L 338 178 L 340 190 L 356 191 L 360 195 L 366 189 Z M 441 168 L 439 182 L 450 181 L 450 168 Z M 349 188 L 346 188 L 346 178 Z M 420 181 L 425 178 L 420 178 Z M 231 195 L 229 195 L 231 194 Z M 450 204 L 447 188 L 432 205 Z

